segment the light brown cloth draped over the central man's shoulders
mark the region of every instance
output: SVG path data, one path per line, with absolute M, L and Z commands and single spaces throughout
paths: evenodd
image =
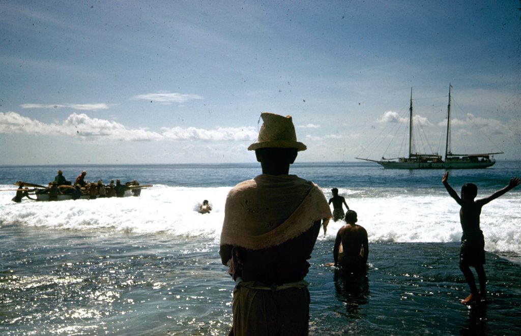
M 324 193 L 313 182 L 296 175 L 258 175 L 228 193 L 220 244 L 266 249 L 329 218 Z

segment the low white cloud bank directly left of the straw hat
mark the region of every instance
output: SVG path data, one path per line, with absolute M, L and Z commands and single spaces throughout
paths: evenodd
M 172 140 L 229 140 L 254 141 L 257 131 L 254 127 L 217 127 L 215 130 L 205 130 L 195 127 L 162 127 L 163 136 Z

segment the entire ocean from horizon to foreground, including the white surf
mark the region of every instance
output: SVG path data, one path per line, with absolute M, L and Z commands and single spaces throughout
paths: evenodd
M 297 159 L 298 160 L 298 159 Z M 11 201 L 17 180 L 152 184 L 140 197 Z M 228 191 L 258 163 L 0 166 L 1 335 L 226 335 L 234 283 L 219 258 Z M 320 232 L 306 277 L 312 335 L 519 335 L 521 187 L 485 205 L 487 305 L 464 306 L 458 268 L 459 207 L 440 170 L 384 170 L 371 163 L 295 163 L 291 174 L 326 195 L 337 187 L 369 235 L 366 277 L 333 267 L 341 222 Z M 454 170 L 456 191 L 478 198 L 521 176 L 520 161 Z M 209 214 L 196 212 L 207 199 Z

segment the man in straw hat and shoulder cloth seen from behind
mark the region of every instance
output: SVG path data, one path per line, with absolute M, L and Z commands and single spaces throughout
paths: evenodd
M 231 334 L 307 335 L 307 260 L 331 210 L 320 188 L 289 175 L 297 152 L 290 116 L 262 113 L 255 150 L 262 175 L 228 193 L 222 225 L 222 264 L 237 282 Z

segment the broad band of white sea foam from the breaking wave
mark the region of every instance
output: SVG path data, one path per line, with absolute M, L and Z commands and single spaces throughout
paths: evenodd
M 0 186 L 7 189 L 7 186 Z M 71 230 L 114 230 L 218 240 L 226 195 L 230 187 L 193 188 L 156 185 L 141 196 L 98 200 L 35 202 L 24 199 L 14 203 L 14 192 L 0 193 L 0 223 Z M 330 197 L 329 190 L 324 190 Z M 461 239 L 459 206 L 446 193 L 418 196 L 412 193 L 340 190 L 358 224 L 367 229 L 370 242 L 458 242 Z M 444 191 L 444 190 L 443 190 Z M 379 195 L 379 196 L 377 196 Z M 199 214 L 204 199 L 212 212 Z M 481 214 L 485 248 L 493 252 L 521 254 L 520 205 L 507 195 L 487 204 Z M 327 235 L 334 240 L 343 222 L 332 222 Z

